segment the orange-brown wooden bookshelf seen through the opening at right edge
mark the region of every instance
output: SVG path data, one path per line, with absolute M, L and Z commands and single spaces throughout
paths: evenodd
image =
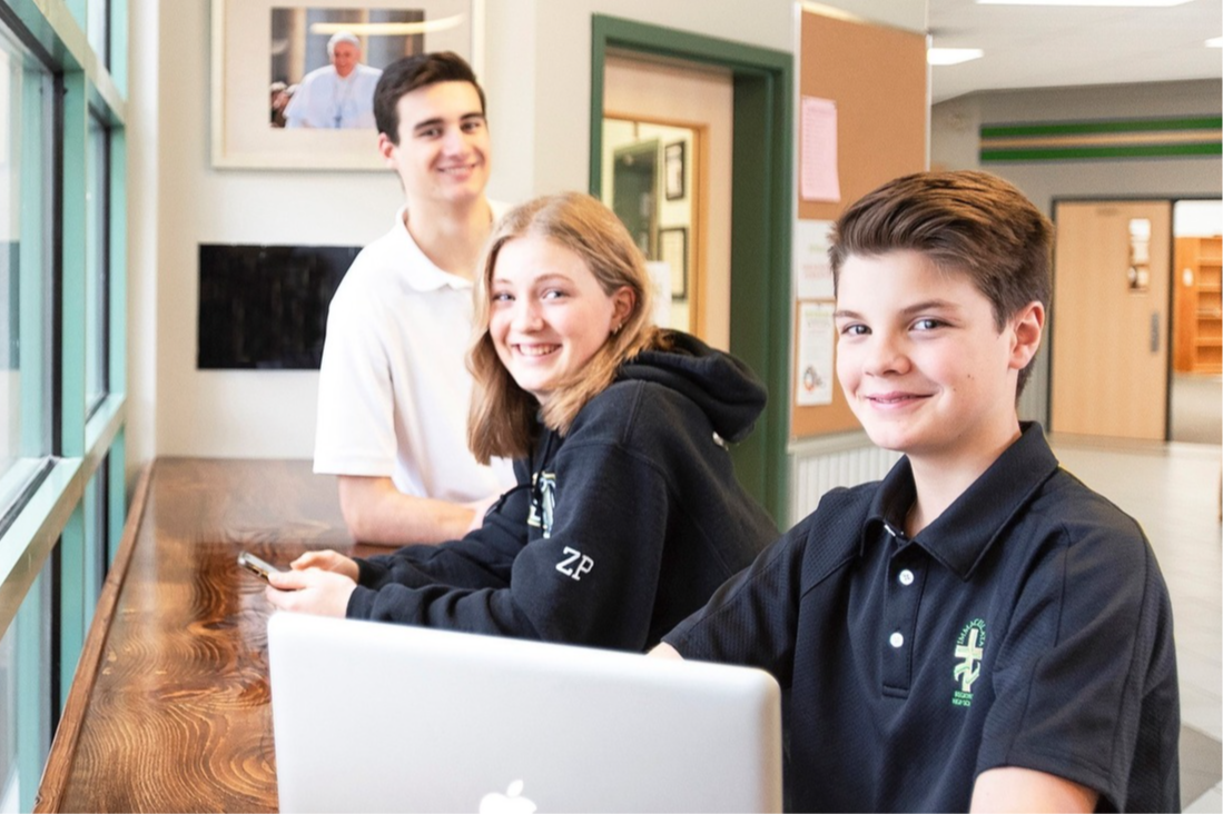
M 1223 235 L 1178 237 L 1173 369 L 1223 373 Z

